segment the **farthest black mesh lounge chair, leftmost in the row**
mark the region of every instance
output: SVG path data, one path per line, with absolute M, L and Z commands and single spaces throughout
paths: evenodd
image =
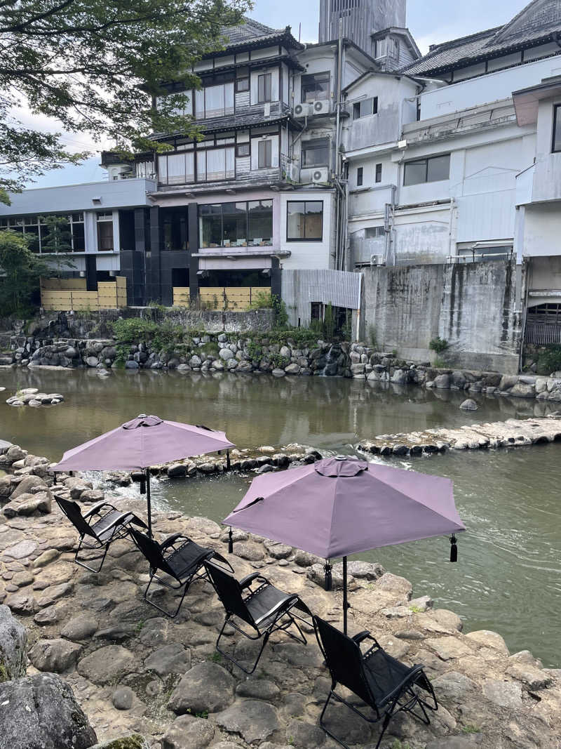
M 85 515 L 82 515 L 82 511 L 76 502 L 65 500 L 63 497 L 55 497 L 55 500 L 62 512 L 64 512 L 64 515 L 67 516 L 80 534 L 80 543 L 76 550 L 74 561 L 91 572 L 101 571 L 109 546 L 112 542 L 122 539 L 123 536 L 129 533 L 129 525 L 131 523 L 146 528 L 144 521 L 137 518 L 134 513 L 120 512 L 108 502 L 98 502 Z M 99 519 L 92 523 L 93 518 Z M 94 569 L 87 565 L 85 560 L 79 560 L 78 555 L 82 548 L 86 551 L 103 550 L 99 568 Z M 93 557 L 93 559 L 99 559 L 99 557 Z M 91 561 L 93 561 L 92 558 L 88 558 L 88 562 Z

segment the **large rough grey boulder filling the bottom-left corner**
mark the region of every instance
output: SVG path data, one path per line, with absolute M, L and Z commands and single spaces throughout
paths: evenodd
M 0 744 L 10 749 L 88 749 L 97 741 L 72 689 L 52 673 L 0 684 L 0 726 Z

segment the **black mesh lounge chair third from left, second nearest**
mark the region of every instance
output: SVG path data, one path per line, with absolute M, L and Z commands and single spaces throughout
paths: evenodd
M 236 577 L 218 568 L 212 562 L 205 562 L 205 567 L 218 598 L 220 598 L 226 610 L 226 618 L 224 619 L 220 634 L 218 634 L 218 640 L 216 640 L 216 649 L 224 655 L 224 658 L 232 661 L 233 664 L 236 664 L 245 673 L 254 673 L 263 649 L 265 649 L 267 641 L 273 632 L 283 631 L 289 637 L 292 637 L 293 640 L 304 643 L 304 645 L 306 644 L 306 638 L 302 634 L 301 628 L 295 622 L 295 618 L 301 620 L 302 618 L 301 616 L 297 616 L 293 609 L 294 607 L 298 607 L 302 612 L 307 613 L 310 618 L 311 613 L 298 595 L 295 593 L 285 593 L 275 588 L 259 572 L 252 572 L 238 581 Z M 251 590 L 251 583 L 254 580 L 258 580 L 260 585 Z M 247 593 L 244 595 L 244 591 L 246 590 Z M 254 629 L 256 634 L 244 631 L 233 621 L 233 616 L 242 619 L 242 622 L 245 622 L 245 624 Z M 249 640 L 260 640 L 263 638 L 259 655 L 257 655 L 257 660 L 251 670 L 245 669 L 242 664 L 235 661 L 234 658 L 218 646 L 227 624 L 230 624 L 236 631 L 243 634 L 244 637 L 248 637 Z M 290 625 L 295 626 L 299 637 L 288 631 Z

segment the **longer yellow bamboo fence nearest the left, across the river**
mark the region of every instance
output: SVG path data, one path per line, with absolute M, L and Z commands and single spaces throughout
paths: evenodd
M 56 312 L 126 307 L 126 278 L 99 281 L 97 291 L 86 291 L 85 279 L 41 279 L 41 306 Z

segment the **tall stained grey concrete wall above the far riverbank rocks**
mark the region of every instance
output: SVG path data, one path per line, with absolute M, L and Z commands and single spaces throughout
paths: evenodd
M 518 372 L 521 327 L 515 265 L 507 261 L 373 267 L 364 271 L 362 335 L 400 357 L 434 359 L 429 343 L 449 343 L 450 366 Z

